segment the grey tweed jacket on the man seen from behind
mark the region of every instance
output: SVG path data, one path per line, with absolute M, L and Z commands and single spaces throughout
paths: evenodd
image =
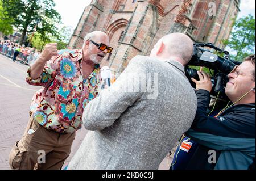
M 90 131 L 68 169 L 158 169 L 191 127 L 196 107 L 183 65 L 136 56 L 85 107 Z

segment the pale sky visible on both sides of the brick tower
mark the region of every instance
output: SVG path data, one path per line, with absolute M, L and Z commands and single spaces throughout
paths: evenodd
M 65 26 L 72 26 L 73 29 L 76 28 L 85 7 L 91 2 L 91 0 L 54 1 L 56 3 L 56 10 L 62 17 L 63 24 Z M 238 17 L 246 16 L 248 14 L 252 14 L 255 17 L 255 0 L 241 0 L 240 10 L 241 12 L 238 14 Z

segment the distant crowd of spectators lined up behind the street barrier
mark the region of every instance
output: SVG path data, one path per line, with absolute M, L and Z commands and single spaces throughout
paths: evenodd
M 30 65 L 38 58 L 40 51 L 2 39 L 0 41 L 0 53 L 11 58 L 13 61 L 20 61 Z

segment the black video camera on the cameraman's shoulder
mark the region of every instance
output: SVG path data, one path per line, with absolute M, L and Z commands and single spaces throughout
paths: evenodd
M 203 47 L 209 47 L 216 50 L 217 53 L 224 53 L 224 58 L 217 56 L 216 54 L 210 52 L 208 49 L 204 49 Z M 212 98 L 216 98 L 218 92 L 219 100 L 228 100 L 225 94 L 225 86 L 229 81 L 228 74 L 235 68 L 236 65 L 240 65 L 241 62 L 230 60 L 229 52 L 224 51 L 218 47 L 215 47 L 212 43 L 195 43 L 194 44 L 194 52 L 191 60 L 185 66 L 185 74 L 189 79 L 192 87 L 196 87 L 195 83 L 191 81 L 191 78 L 195 78 L 199 80 L 199 76 L 197 75 L 197 70 L 189 68 L 189 65 L 193 66 L 204 66 L 205 68 L 209 68 L 211 74 L 212 81 Z M 213 73 L 212 71 L 213 70 Z

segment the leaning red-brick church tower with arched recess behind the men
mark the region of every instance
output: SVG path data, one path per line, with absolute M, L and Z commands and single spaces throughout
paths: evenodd
M 104 31 L 114 48 L 101 66 L 121 73 L 134 56 L 149 55 L 156 42 L 172 32 L 183 32 L 193 41 L 224 48 L 240 0 L 92 0 L 69 41 L 81 48 L 86 33 Z

